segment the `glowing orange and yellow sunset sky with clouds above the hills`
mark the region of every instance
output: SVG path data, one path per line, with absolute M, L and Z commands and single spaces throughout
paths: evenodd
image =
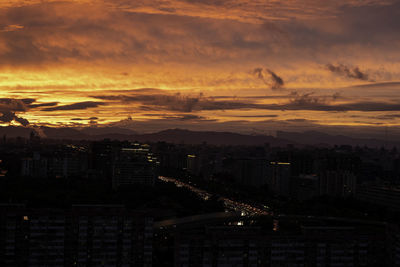
M 400 128 L 397 0 L 2 0 L 0 123 Z

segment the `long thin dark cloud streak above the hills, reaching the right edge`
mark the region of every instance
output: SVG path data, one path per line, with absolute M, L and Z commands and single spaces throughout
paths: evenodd
M 253 99 L 241 100 L 215 100 L 213 98 L 199 95 L 185 96 L 182 94 L 131 94 L 115 96 L 93 96 L 105 101 L 120 101 L 125 104 L 140 104 L 141 110 L 148 111 L 178 111 L 194 112 L 201 110 L 239 110 L 239 109 L 261 109 L 261 110 L 311 110 L 311 111 L 400 111 L 400 103 L 355 101 L 345 104 L 334 104 L 341 98 L 340 94 L 319 96 L 314 93 L 292 92 L 287 95 L 286 103 L 262 104 Z M 97 103 L 97 102 L 96 102 Z

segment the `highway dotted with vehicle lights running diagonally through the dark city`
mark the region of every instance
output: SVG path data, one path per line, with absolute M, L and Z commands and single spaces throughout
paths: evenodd
M 159 176 L 158 179 L 164 182 L 174 183 L 177 187 L 187 188 L 204 200 L 208 200 L 212 196 L 212 194 L 197 188 L 194 184 L 185 183 L 175 178 Z M 267 208 L 255 207 L 248 203 L 239 202 L 226 197 L 219 197 L 219 200 L 223 201 L 227 212 L 240 212 L 242 216 L 271 215 Z

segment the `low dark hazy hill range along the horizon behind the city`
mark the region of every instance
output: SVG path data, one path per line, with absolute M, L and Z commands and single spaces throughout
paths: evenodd
M 369 147 L 400 146 L 400 141 L 384 141 L 379 139 L 356 138 L 344 135 L 331 135 L 317 131 L 285 132 L 278 131 L 277 137 L 267 135 L 246 135 L 232 132 L 189 131 L 183 129 L 169 129 L 150 134 L 138 134 L 132 130 L 119 127 L 91 127 L 91 128 L 51 128 L 7 126 L 0 127 L 0 137 L 25 137 L 28 138 L 32 131 L 40 132 L 42 137 L 49 139 L 67 140 L 130 140 L 139 142 L 165 141 L 169 143 L 212 145 L 264 145 L 287 146 L 294 145 L 358 145 Z

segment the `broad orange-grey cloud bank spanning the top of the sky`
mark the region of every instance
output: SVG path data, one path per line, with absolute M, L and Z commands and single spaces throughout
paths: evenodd
M 111 4 L 110 2 L 121 1 L 106 2 Z M 64 62 L 65 59 L 90 61 L 105 58 L 115 61 L 126 59 L 132 62 L 134 59 L 134 62 L 147 62 L 153 57 L 157 58 L 155 62 L 167 62 L 165 59 L 173 62 L 176 59 L 193 62 L 193 59 L 208 60 L 213 56 L 213 58 L 218 57 L 218 60 L 232 57 L 247 59 L 268 57 L 274 63 L 285 64 L 285 60 L 296 61 L 304 57 L 310 61 L 318 60 L 318 56 L 334 57 L 336 53 L 331 49 L 336 52 L 336 45 L 343 45 L 341 48 L 344 53 L 353 51 L 351 47 L 354 45 L 360 45 L 360 50 L 364 53 L 365 51 L 362 51 L 364 47 L 365 50 L 377 47 L 380 48 L 378 49 L 380 53 L 385 54 L 389 52 L 383 50 L 386 46 L 398 48 L 397 33 L 400 21 L 398 3 L 393 6 L 375 6 L 361 4 L 371 1 L 354 1 L 360 3 L 355 8 L 348 3 L 349 1 L 345 1 L 346 4 L 324 3 L 321 5 L 323 8 L 316 8 L 315 6 L 320 6 L 316 5 L 318 1 L 306 1 L 306 6 L 314 6 L 314 9 L 304 9 L 304 4 L 299 4 L 302 1 L 263 4 L 262 1 L 237 3 L 199 0 L 190 1 L 202 3 L 191 7 L 196 10 L 192 13 L 189 12 L 191 8 L 182 9 L 179 1 L 177 3 L 162 1 L 161 6 L 152 1 L 122 2 L 124 4 L 121 6 L 117 4 L 118 9 L 109 9 L 106 5 L 107 11 L 110 12 L 107 15 L 98 14 L 101 8 L 105 7 L 104 1 L 94 1 L 90 5 L 78 4 L 76 1 L 41 1 L 36 5 L 14 7 L 10 5 L 7 9 L 1 10 L 0 24 L 10 25 L 11 27 L 8 27 L 10 29 L 24 28 L 3 34 L 2 43 L 7 49 L 1 55 L 1 63 L 37 65 L 47 61 Z M 216 4 L 219 2 L 225 4 Z M 234 2 L 236 3 L 233 4 Z M 204 3 L 212 3 L 214 12 L 209 12 L 210 10 L 207 12 Z M 135 11 L 134 7 L 138 5 L 140 8 Z M 338 6 L 340 9 L 337 9 Z M 149 12 L 147 8 L 152 11 Z M 330 8 L 332 9 L 329 11 Z M 157 10 L 162 10 L 161 13 L 164 13 L 173 12 L 175 9 L 180 10 L 177 13 L 179 15 L 157 15 Z M 283 10 L 286 10 L 283 13 L 289 12 L 291 15 L 282 14 Z M 143 12 L 149 12 L 151 15 Z M 316 20 L 315 24 L 318 25 L 301 23 L 301 19 L 292 23 L 284 22 L 284 18 L 292 19 L 294 15 L 305 15 L 303 12 L 307 17 L 314 14 L 324 20 Z M 335 16 L 326 16 L 326 13 Z M 212 18 L 220 19 L 216 21 L 202 18 L 211 14 Z M 273 14 L 279 19 L 271 20 Z M 257 23 L 244 24 L 226 21 L 224 20 L 226 18 L 246 22 L 257 21 Z M 262 25 L 258 24 L 260 22 Z M 272 22 L 277 26 L 265 26 L 271 25 Z M 329 26 L 325 26 L 324 23 Z M 340 33 L 333 34 L 325 28 L 338 28 Z M 290 42 L 274 42 L 271 35 L 273 36 L 276 31 L 288 35 Z M 160 43 L 163 45 L 160 46 Z M 206 55 L 209 57 L 204 57 Z M 179 58 L 180 56 L 182 58 Z

